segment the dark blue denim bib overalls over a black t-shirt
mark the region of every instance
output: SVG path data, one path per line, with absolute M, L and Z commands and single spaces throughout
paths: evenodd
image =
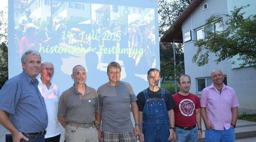
M 169 142 L 169 121 L 164 93 L 164 88 L 161 88 L 161 98 L 149 98 L 147 90 L 143 90 L 146 99 L 142 128 L 144 142 Z

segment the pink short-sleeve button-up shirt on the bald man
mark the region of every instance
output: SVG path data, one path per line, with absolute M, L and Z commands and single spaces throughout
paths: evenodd
M 232 120 L 232 107 L 238 107 L 239 103 L 235 90 L 223 84 L 222 91 L 219 93 L 213 83 L 203 89 L 201 96 L 201 107 L 207 108 L 208 122 L 215 130 L 230 128 Z

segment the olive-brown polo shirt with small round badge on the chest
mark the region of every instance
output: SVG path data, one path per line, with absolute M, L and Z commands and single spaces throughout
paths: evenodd
M 84 95 L 73 85 L 60 96 L 57 117 L 66 117 L 67 122 L 92 123 L 99 114 L 99 98 L 96 90 L 86 87 Z

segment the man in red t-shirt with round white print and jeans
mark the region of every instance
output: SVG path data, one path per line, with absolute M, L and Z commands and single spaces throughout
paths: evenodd
M 201 115 L 198 96 L 189 92 L 190 77 L 182 74 L 178 79 L 180 92 L 173 95 L 176 142 L 198 142 L 202 138 Z M 197 125 L 197 127 L 196 127 Z

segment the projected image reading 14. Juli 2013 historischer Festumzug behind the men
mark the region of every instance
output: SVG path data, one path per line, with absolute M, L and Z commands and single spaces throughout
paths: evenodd
M 97 90 L 108 82 L 107 65 L 113 61 L 120 63 L 121 80 L 135 93 L 142 88 L 136 86 L 147 87 L 148 69 L 160 68 L 157 5 L 86 2 L 14 0 L 15 47 L 9 52 L 15 59 L 10 66 L 17 70 L 10 71 L 11 76 L 21 72 L 21 55 L 32 49 L 41 54 L 42 62 L 53 63 L 53 82 L 61 92 L 73 84 L 70 74 L 75 65 L 86 68 L 86 84 Z

